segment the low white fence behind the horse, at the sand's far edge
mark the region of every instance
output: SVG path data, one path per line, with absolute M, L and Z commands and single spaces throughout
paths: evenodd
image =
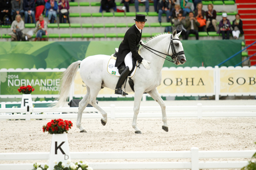
M 4 105 L 2 105 L 4 106 Z M 102 107 L 108 113 L 108 117 L 115 118 L 132 118 L 133 107 Z M 94 107 L 87 107 L 83 113 L 82 118 L 101 118 L 102 115 Z M 180 112 L 187 111 L 187 112 Z M 211 111 L 211 112 L 205 112 Z M 214 112 L 212 112 L 214 111 Z M 223 112 L 225 111 L 225 112 Z M 237 112 L 240 111 L 240 112 Z M 245 112 L 247 111 L 247 112 Z M 39 114 L 39 113 L 45 114 Z M 65 112 L 66 114 L 63 114 Z M 72 112 L 72 113 L 70 113 Z M 62 107 L 57 110 L 52 108 L 1 108 L 0 119 L 54 119 L 54 118 L 77 118 L 78 107 Z M 89 113 L 88 113 L 89 112 Z M 167 117 L 255 117 L 256 106 L 166 106 Z M 170 113 L 168 113 L 170 112 Z M 172 113 L 173 112 L 173 113 Z M 24 114 L 12 114 L 24 113 Z M 26 113 L 26 114 L 25 114 Z M 32 113 L 32 114 L 31 114 Z M 56 114 L 58 113 L 58 114 Z M 146 106 L 140 107 L 138 117 L 154 118 L 162 117 L 160 106 Z

